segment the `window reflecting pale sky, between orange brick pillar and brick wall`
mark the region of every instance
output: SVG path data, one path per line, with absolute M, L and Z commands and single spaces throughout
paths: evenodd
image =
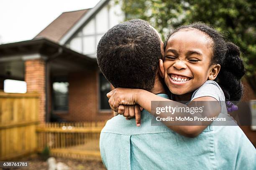
M 67 111 L 68 106 L 68 82 L 54 82 L 53 83 L 53 109 L 55 111 Z

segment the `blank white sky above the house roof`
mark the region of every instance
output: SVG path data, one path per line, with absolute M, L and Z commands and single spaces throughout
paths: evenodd
M 61 13 L 94 7 L 100 0 L 0 0 L 0 44 L 31 40 Z

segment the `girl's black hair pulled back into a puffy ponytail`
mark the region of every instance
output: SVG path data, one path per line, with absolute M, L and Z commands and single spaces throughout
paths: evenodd
M 164 43 L 164 48 L 169 38 L 179 30 L 196 29 L 204 32 L 210 37 L 212 45 L 212 60 L 211 64 L 220 64 L 220 72 L 214 81 L 218 82 L 224 92 L 225 100 L 239 101 L 243 95 L 243 85 L 241 78 L 246 70 L 243 65 L 243 60 L 240 57 L 241 52 L 238 46 L 232 42 L 228 42 L 225 36 L 215 30 L 212 25 L 196 22 L 189 25 L 182 25 L 174 29 L 167 35 Z

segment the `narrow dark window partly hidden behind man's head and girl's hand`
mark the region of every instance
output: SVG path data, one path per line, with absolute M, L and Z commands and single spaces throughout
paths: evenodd
M 111 91 L 110 83 L 102 73 L 100 73 L 100 110 L 110 110 L 107 93 Z

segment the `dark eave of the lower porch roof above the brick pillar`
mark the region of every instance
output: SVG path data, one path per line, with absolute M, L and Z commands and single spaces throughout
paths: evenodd
M 7 60 L 8 57 L 12 56 L 23 57 L 33 53 L 40 53 L 46 56 L 47 60 L 55 58 L 59 60 L 69 60 L 70 63 L 75 63 L 81 67 L 89 68 L 97 65 L 95 59 L 45 38 L 0 45 L 0 61 Z M 56 57 L 56 54 L 58 54 L 58 57 Z

